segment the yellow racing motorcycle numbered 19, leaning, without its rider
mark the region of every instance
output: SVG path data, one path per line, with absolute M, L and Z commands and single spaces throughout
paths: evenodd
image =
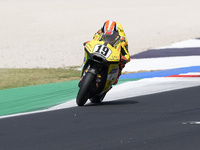
M 106 93 L 117 79 L 120 65 L 121 44 L 115 39 L 109 41 L 93 39 L 84 46 L 84 65 L 76 97 L 78 106 L 89 99 L 92 103 L 101 103 Z

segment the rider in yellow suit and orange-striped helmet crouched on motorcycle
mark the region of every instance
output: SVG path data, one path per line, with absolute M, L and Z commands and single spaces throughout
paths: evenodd
M 128 40 L 122 28 L 122 25 L 119 22 L 113 20 L 107 20 L 101 29 L 99 29 L 95 34 L 93 39 L 95 40 L 104 40 L 112 46 L 116 44 L 121 44 L 121 59 L 119 65 L 118 77 L 114 83 L 118 83 L 118 79 L 121 75 L 122 69 L 125 67 L 125 64 L 130 61 L 130 55 L 128 52 Z M 84 44 L 85 45 L 85 44 Z

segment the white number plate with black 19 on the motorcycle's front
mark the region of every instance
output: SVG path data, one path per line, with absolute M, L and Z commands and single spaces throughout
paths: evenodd
M 108 58 L 110 54 L 112 53 L 112 51 L 105 45 L 95 45 L 93 52 L 99 53 L 106 58 Z

